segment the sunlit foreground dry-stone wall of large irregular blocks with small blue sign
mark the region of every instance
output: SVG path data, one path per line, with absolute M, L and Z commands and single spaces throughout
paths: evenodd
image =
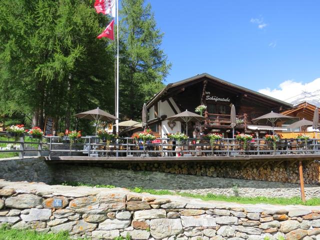
M 0 180 L 0 224 L 92 240 L 319 240 L 319 210 Z

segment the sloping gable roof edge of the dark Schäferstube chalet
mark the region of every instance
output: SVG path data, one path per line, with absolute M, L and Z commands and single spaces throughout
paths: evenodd
M 197 83 L 197 82 L 198 82 L 197 80 L 199 80 L 200 78 L 203 78 L 203 77 L 206 77 L 206 78 L 208 78 L 208 79 L 210 79 L 210 80 L 212 80 L 212 81 L 215 81 L 215 82 L 222 83 L 223 85 L 227 85 L 227 86 L 230 86 L 230 87 L 233 87 L 233 88 L 237 88 L 237 89 L 239 89 L 239 90 L 242 90 L 242 91 L 251 93 L 251 94 L 256 95 L 256 96 L 258 96 L 258 97 L 266 98 L 266 99 L 268 99 L 268 100 L 270 100 L 270 101 L 279 103 L 279 104 L 284 105 L 284 106 L 286 106 L 286 107 L 292 107 L 292 104 L 290 104 L 290 103 L 288 103 L 288 102 L 281 101 L 281 100 L 276 99 L 276 98 L 273 98 L 273 97 L 271 97 L 271 96 L 262 94 L 262 93 L 260 93 L 260 92 L 257 92 L 257 91 L 251 90 L 251 89 L 248 89 L 248 88 L 246 88 L 246 87 L 233 84 L 233 83 L 231 83 L 231 82 L 222 80 L 222 79 L 220 79 L 220 78 L 218 78 L 218 77 L 212 76 L 212 75 L 204 72 L 204 73 L 197 74 L 197 75 L 195 75 L 195 76 L 186 78 L 186 79 L 184 79 L 184 80 L 180 80 L 180 81 L 176 81 L 176 82 L 167 84 L 162 90 L 160 90 L 158 93 L 156 93 L 156 94 L 147 102 L 147 108 L 151 107 L 156 101 L 158 101 L 158 99 L 161 98 L 161 96 L 165 95 L 165 93 L 166 93 L 170 88 L 177 87 L 177 86 L 182 86 L 182 85 L 185 85 L 186 83 L 189 83 L 189 82 L 192 82 L 192 81 L 194 81 L 194 83 Z

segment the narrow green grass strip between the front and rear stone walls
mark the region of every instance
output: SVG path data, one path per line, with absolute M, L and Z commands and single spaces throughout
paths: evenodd
M 71 186 L 95 186 L 95 187 L 106 187 L 113 188 L 113 185 L 93 185 L 93 184 L 85 184 L 82 182 L 63 182 L 62 185 L 71 185 Z M 193 198 L 199 198 L 201 200 L 209 201 L 228 201 L 228 202 L 238 202 L 238 203 L 269 203 L 269 204 L 279 204 L 279 205 L 289 205 L 289 204 L 301 204 L 301 205 L 309 205 L 316 206 L 320 205 L 320 198 L 311 198 L 306 200 L 306 202 L 302 202 L 300 197 L 264 197 L 264 196 L 256 196 L 256 197 L 245 197 L 245 196 L 225 196 L 225 195 L 215 195 L 212 193 L 207 193 L 206 195 L 201 194 L 193 194 L 186 192 L 174 192 L 172 190 L 155 190 L 155 189 L 145 189 L 142 187 L 127 187 L 130 191 L 133 192 L 148 192 L 154 195 L 180 195 L 187 196 Z

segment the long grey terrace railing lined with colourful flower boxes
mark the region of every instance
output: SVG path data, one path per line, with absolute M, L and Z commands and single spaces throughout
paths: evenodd
M 131 137 L 102 140 L 97 136 L 83 136 L 70 143 L 67 137 L 44 136 L 40 139 L 21 136 L 12 138 L 0 133 L 0 144 L 16 144 L 15 149 L 1 149 L 0 153 L 18 152 L 19 157 L 27 152 L 40 156 L 46 152 L 49 156 L 237 156 L 262 154 L 320 154 L 320 139 L 301 141 L 285 138 L 275 144 L 263 138 L 253 138 L 249 142 L 239 142 L 234 138 L 221 138 L 209 142 L 199 138 L 185 141 L 172 141 L 169 138 L 157 138 L 152 142 L 141 142 Z M 5 138 L 6 137 L 6 138 Z M 32 145 L 29 149 L 28 145 Z

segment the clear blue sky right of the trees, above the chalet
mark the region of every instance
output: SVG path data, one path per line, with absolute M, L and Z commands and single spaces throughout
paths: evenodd
M 172 63 L 166 83 L 208 72 L 254 89 L 320 77 L 318 0 L 147 0 Z

